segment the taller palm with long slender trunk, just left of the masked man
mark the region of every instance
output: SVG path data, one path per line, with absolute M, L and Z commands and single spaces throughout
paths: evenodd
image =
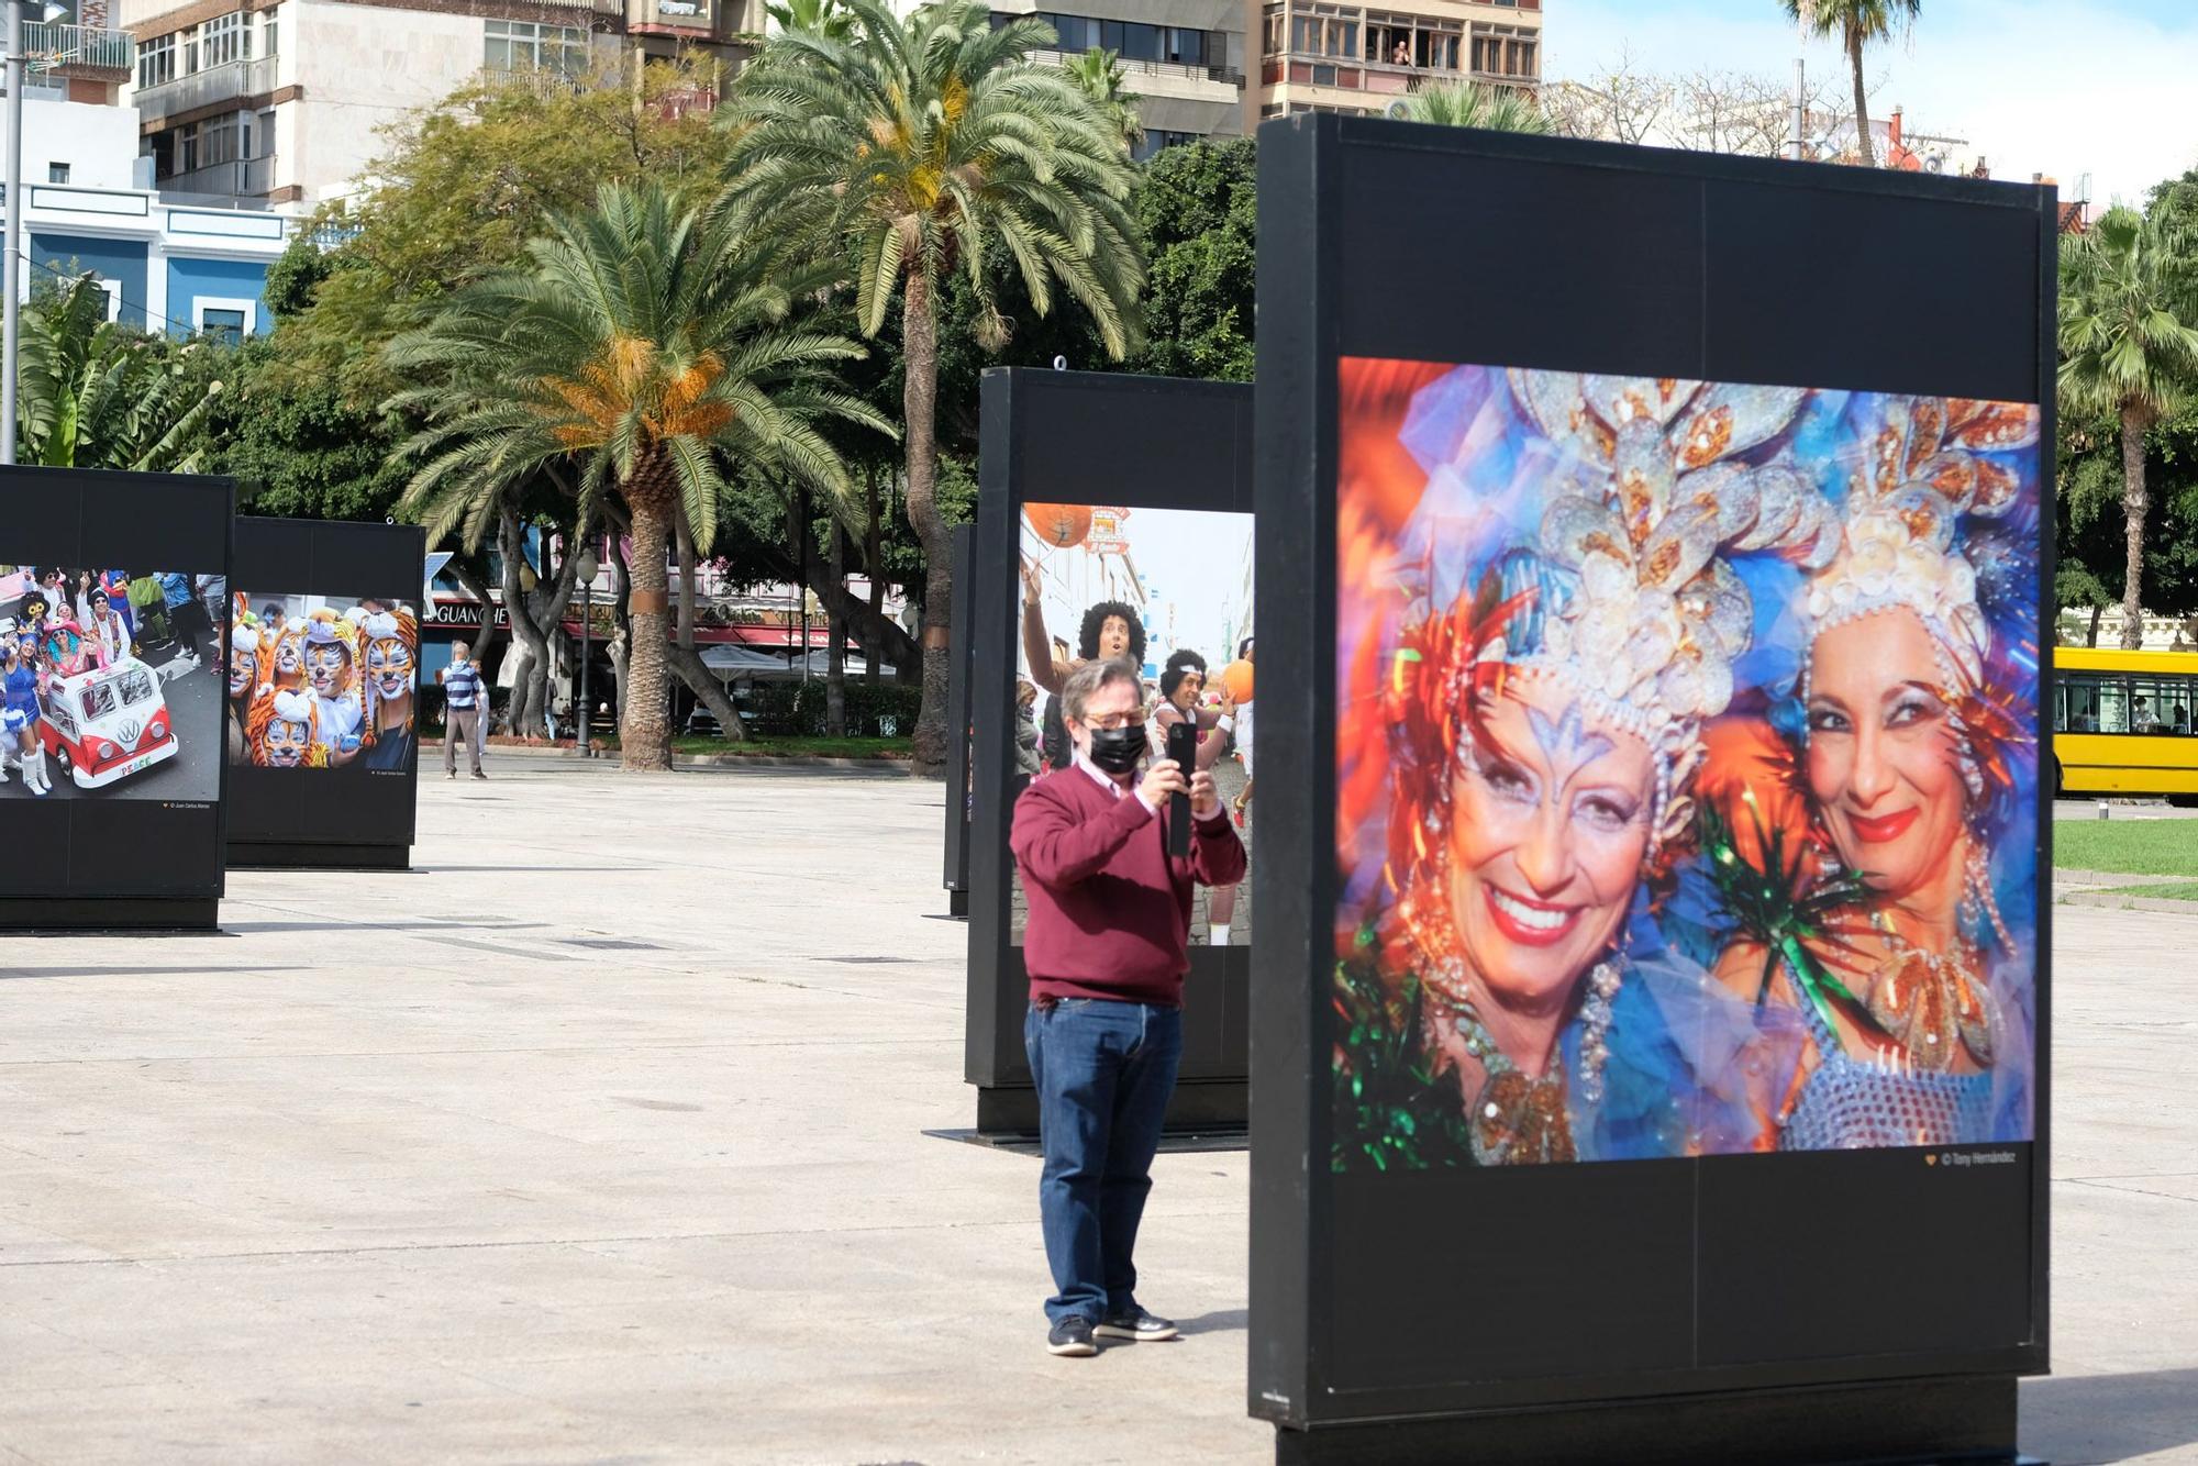
M 914 763 L 945 765 L 952 541 L 939 514 L 934 413 L 939 290 L 961 273 L 976 334 L 1004 345 L 1009 321 L 985 270 L 998 240 L 1044 314 L 1055 288 L 1090 312 L 1110 356 L 1130 352 L 1145 266 L 1128 198 L 1136 178 L 1121 130 L 1057 66 L 1031 18 L 993 29 L 972 0 L 908 20 L 848 0 L 855 37 L 785 31 L 719 116 L 734 130 L 723 211 L 793 259 L 840 259 L 862 332 L 901 297 L 901 409 L 908 523 L 923 545 L 923 710 Z

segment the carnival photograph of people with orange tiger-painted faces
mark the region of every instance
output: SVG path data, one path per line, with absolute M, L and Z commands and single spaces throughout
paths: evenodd
M 418 668 L 420 615 L 393 598 L 237 591 L 229 760 L 411 774 Z

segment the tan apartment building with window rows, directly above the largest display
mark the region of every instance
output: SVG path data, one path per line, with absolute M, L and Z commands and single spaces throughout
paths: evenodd
M 1541 0 L 1248 0 L 1257 114 L 1380 116 L 1424 86 L 1541 86 Z

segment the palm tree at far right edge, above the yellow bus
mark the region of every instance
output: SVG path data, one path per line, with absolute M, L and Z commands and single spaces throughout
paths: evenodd
M 2165 211 L 2145 218 L 2117 204 L 2060 257 L 2062 400 L 2121 422 L 2121 644 L 2132 651 L 2145 642 L 2145 429 L 2180 411 L 2198 382 L 2191 251 Z

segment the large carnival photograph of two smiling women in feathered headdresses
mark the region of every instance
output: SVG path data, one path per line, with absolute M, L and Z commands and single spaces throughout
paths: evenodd
M 2038 409 L 1339 387 L 1330 1165 L 2031 1139 Z

